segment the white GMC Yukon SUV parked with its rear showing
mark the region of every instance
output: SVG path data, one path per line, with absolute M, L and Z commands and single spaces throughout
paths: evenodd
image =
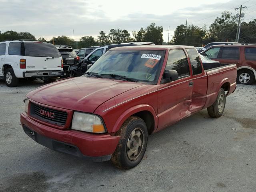
M 19 78 L 54 82 L 63 76 L 63 60 L 53 44 L 26 40 L 0 42 L 0 77 L 6 85 L 18 85 Z

